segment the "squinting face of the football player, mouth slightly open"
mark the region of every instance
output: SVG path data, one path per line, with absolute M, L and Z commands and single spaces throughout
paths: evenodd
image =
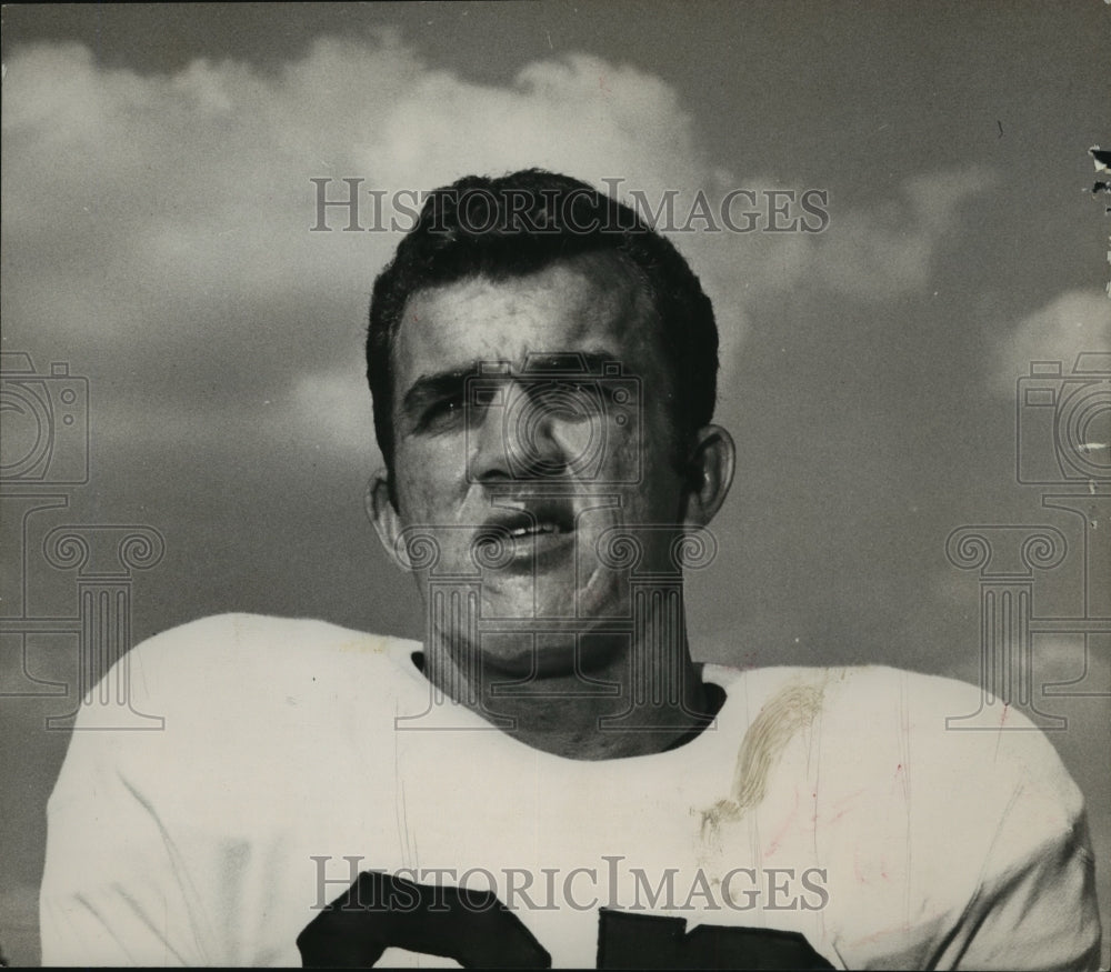
M 630 571 L 604 553 L 620 553 L 615 530 L 643 544 L 641 570 L 673 572 L 673 532 L 637 529 L 682 510 L 658 328 L 608 257 L 409 300 L 393 352 L 394 488 L 400 525 L 427 528 L 441 551 L 423 581 L 480 577 L 484 622 L 585 632 L 629 617 Z M 481 651 L 511 670 L 531 663 L 520 638 L 483 637 Z

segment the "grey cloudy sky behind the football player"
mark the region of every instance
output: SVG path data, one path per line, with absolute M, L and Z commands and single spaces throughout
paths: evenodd
M 28 530 L 164 537 L 162 562 L 136 577 L 136 639 L 227 610 L 419 635 L 411 582 L 362 512 L 377 464 L 362 331 L 398 234 L 343 232 L 336 211 L 313 232 L 311 180 L 334 180 L 338 198 L 361 179 L 392 200 L 524 166 L 653 203 L 670 191 L 673 239 L 718 310 L 719 421 L 740 463 L 718 562 L 692 582 L 698 658 L 975 680 L 977 575 L 945 558 L 963 524 L 1057 527 L 1070 553 L 1039 574 L 1035 609 L 1083 612 L 1080 518 L 1017 481 L 1015 382 L 1032 360 L 1069 373 L 1079 352 L 1111 348 L 1111 217 L 1087 152 L 1111 141 L 1105 3 L 2 17 L 2 348 L 40 372 L 68 362 L 90 389 L 89 483 Z M 700 192 L 712 207 L 735 189 L 828 193 L 828 227 L 682 226 Z M 1094 421 L 1099 439 L 1107 407 Z M 1053 450 L 1051 431 L 1020 431 L 1031 455 Z M 72 577 L 32 554 L 24 568 L 6 552 L 3 617 L 72 613 Z M 1035 650 L 1038 684 L 1084 672 L 1075 637 Z M 1105 691 L 1109 651 L 1091 639 L 1078 690 Z M 28 658 L 39 678 L 76 677 L 72 651 L 32 639 Z M 0 677 L 3 691 L 29 684 L 11 635 Z M 1093 808 L 1105 908 L 1108 699 L 1040 704 L 1069 719 L 1052 738 Z M 43 719 L 67 707 L 0 707 L 18 780 L 0 793 L 0 945 L 30 962 L 66 744 Z

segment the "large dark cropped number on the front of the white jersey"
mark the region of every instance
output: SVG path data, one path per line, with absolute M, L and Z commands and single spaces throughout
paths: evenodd
M 389 948 L 464 968 L 550 969 L 551 955 L 489 892 L 367 871 L 297 938 L 307 968 L 369 968 Z M 700 924 L 603 908 L 599 969 L 832 969 L 798 932 Z

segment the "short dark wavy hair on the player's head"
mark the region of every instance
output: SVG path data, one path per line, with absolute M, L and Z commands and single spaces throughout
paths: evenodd
M 584 253 L 614 253 L 642 278 L 660 321 L 682 439 L 713 417 L 718 328 L 698 277 L 669 240 L 627 206 L 569 176 L 524 169 L 467 176 L 433 191 L 378 275 L 370 301 L 367 378 L 374 432 L 393 484 L 392 349 L 417 291 L 473 277 L 526 277 Z

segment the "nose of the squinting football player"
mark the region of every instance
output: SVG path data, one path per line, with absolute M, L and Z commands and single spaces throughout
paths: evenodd
M 471 477 L 480 481 L 564 475 L 568 442 L 561 417 L 532 383 L 507 381 L 471 424 Z

